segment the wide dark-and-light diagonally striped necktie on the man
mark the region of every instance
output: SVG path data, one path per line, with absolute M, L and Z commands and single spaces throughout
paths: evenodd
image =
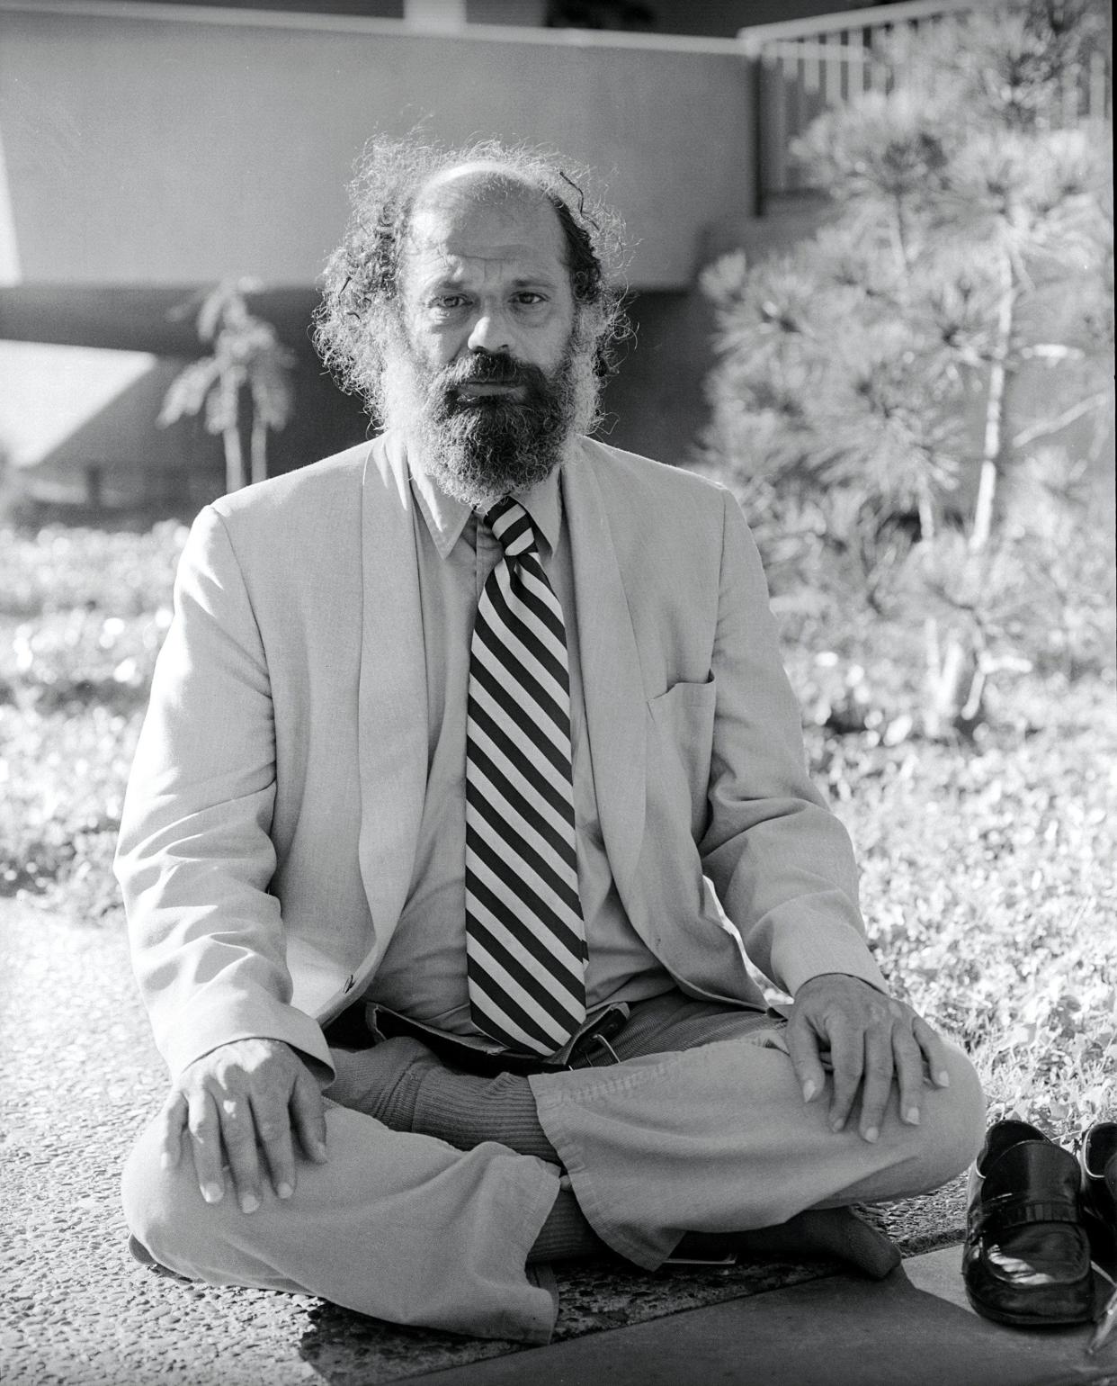
M 488 511 L 504 557 L 481 592 L 466 739 L 466 965 L 473 1021 L 553 1055 L 586 1016 L 563 608 L 531 517 Z

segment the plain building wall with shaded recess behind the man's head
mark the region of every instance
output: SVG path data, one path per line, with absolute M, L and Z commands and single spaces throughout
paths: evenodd
M 606 394 L 608 438 L 687 459 L 710 365 L 696 272 L 711 227 L 754 201 L 750 68 L 733 43 L 85 8 L 0 0 L 0 136 L 24 286 L 11 292 L 40 308 L 36 328 L 0 290 L 0 335 L 177 355 L 188 333 L 179 324 L 168 345 L 168 302 L 191 286 L 249 274 L 309 297 L 373 130 L 525 139 L 596 169 L 628 223 L 637 337 Z M 273 441 L 276 470 L 367 428 L 306 359 L 308 319 L 283 324 L 299 348 L 299 401 Z M 159 381 L 115 401 L 96 438 L 83 430 L 43 457 L 43 474 L 76 478 L 91 459 L 107 488 L 136 468 L 169 484 L 182 445 L 219 486 L 212 439 L 187 424 L 154 431 Z

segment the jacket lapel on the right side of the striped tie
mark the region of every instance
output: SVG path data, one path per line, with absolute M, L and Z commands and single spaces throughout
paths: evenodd
M 646 699 L 604 498 L 585 452 L 563 468 L 578 646 L 601 836 L 621 897 L 633 886 L 644 830 Z

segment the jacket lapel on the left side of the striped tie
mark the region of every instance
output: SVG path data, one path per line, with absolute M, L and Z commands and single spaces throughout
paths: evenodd
M 427 776 L 427 669 L 402 442 L 369 450 L 362 516 L 362 647 L 358 708 L 360 875 L 376 930 L 367 974 L 395 930 L 414 869 Z

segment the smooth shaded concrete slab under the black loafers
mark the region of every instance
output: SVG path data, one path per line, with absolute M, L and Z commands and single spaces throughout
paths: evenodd
M 407 1386 L 1117 1386 L 1117 1339 L 1091 1358 L 1089 1336 L 978 1318 L 952 1246 L 877 1283 L 833 1275 Z

